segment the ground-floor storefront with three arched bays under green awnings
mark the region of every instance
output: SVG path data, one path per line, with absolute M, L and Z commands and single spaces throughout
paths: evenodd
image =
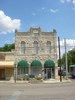
M 55 63 L 52 60 L 46 60 L 44 63 L 44 73 L 42 71 L 42 64 L 39 60 L 33 60 L 29 66 L 26 60 L 21 60 L 17 64 L 17 79 L 25 79 L 27 75 L 29 78 L 55 78 Z

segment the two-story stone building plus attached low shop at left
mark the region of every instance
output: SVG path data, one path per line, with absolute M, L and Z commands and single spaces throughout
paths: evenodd
M 56 30 L 43 32 L 41 28 L 30 28 L 28 32 L 15 30 L 15 50 L 0 53 L 0 79 L 41 77 L 57 78 Z

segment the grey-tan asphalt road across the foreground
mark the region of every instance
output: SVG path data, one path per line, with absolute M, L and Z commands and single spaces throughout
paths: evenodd
M 0 83 L 0 100 L 75 100 L 75 79 L 53 84 Z

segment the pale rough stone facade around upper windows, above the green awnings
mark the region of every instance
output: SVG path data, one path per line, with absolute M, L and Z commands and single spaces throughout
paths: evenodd
M 24 41 L 26 45 L 25 54 L 21 54 L 21 42 Z M 34 41 L 38 42 L 38 53 L 34 53 Z M 51 52 L 47 52 L 46 43 L 51 42 Z M 56 30 L 53 32 L 43 32 L 41 28 L 30 28 L 28 32 L 15 31 L 15 59 L 16 63 L 20 60 L 26 60 L 29 65 L 33 60 L 40 60 L 42 68 L 44 62 L 51 59 L 55 63 L 55 77 L 58 76 L 57 70 L 57 40 Z

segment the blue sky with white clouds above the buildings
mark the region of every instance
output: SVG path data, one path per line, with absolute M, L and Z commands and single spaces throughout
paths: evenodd
M 14 43 L 15 29 L 56 29 L 61 46 L 75 47 L 75 0 L 0 0 L 0 47 Z M 58 39 L 58 38 L 57 38 Z

